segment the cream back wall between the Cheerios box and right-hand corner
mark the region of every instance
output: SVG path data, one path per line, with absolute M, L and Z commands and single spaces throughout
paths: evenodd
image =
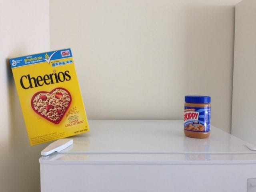
M 90 119 L 182 119 L 209 95 L 230 132 L 237 2 L 51 0 L 50 48 L 72 48 Z

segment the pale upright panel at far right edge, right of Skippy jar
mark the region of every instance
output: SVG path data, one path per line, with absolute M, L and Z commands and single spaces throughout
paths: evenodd
M 256 145 L 256 1 L 236 6 L 232 134 Z

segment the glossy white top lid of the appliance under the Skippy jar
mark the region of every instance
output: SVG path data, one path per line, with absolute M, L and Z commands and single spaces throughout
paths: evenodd
M 182 120 L 89 120 L 89 126 L 90 132 L 70 137 L 73 145 L 50 158 L 41 158 L 40 163 L 56 159 L 77 161 L 78 157 L 84 161 L 81 155 L 86 155 L 86 160 L 88 155 L 92 159 L 104 157 L 108 160 L 123 155 L 126 160 L 134 160 L 134 154 L 137 154 L 137 159 L 175 157 L 176 160 L 184 159 L 184 154 L 189 160 L 230 159 L 230 156 L 234 159 L 239 156 L 240 160 L 256 162 L 256 152 L 249 150 L 246 142 L 214 126 L 211 126 L 210 137 L 205 139 L 184 136 Z M 62 158 L 56 158 L 56 155 Z

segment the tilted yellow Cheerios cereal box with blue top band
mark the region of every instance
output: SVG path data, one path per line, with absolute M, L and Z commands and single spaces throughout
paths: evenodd
M 10 64 L 31 146 L 89 131 L 70 49 Z

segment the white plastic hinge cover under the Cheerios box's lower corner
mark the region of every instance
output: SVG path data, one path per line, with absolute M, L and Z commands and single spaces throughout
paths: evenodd
M 73 139 L 59 139 L 50 145 L 48 145 L 44 150 L 41 151 L 42 156 L 48 156 L 54 152 L 60 152 L 70 145 L 73 144 Z

